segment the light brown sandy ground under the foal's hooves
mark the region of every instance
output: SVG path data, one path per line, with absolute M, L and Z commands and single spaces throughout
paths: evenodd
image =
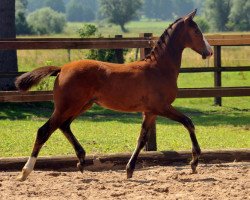
M 0 172 L 0 199 L 250 199 L 250 163 L 155 166 L 91 172 L 34 171 L 25 182 L 18 172 Z

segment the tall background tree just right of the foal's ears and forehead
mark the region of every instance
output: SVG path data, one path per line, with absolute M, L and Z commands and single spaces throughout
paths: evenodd
M 204 12 L 214 31 L 227 31 L 228 16 L 232 0 L 206 0 Z

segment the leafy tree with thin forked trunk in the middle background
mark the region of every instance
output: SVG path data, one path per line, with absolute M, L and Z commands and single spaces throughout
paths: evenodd
M 117 24 L 127 32 L 125 24 L 137 16 L 141 0 L 100 0 L 100 11 L 110 23 Z

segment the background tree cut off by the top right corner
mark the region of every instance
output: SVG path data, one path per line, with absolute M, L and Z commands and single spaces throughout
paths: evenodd
M 231 12 L 227 27 L 233 31 L 250 30 L 250 1 L 232 0 Z

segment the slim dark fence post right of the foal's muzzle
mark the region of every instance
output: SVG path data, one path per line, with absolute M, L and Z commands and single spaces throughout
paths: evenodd
M 214 67 L 214 87 L 221 87 L 221 46 L 214 46 Z M 215 97 L 214 104 L 221 106 L 221 97 Z

